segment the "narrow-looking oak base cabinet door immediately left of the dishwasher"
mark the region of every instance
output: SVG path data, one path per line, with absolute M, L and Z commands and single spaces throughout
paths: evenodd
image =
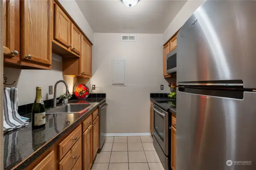
M 99 148 L 99 117 L 93 121 L 92 127 L 92 160 L 94 160 Z

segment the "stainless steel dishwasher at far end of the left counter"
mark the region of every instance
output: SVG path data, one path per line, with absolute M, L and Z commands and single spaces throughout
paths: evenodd
M 102 148 L 104 142 L 105 142 L 105 134 L 106 134 L 106 107 L 108 106 L 108 103 L 103 102 L 99 106 L 99 149 Z

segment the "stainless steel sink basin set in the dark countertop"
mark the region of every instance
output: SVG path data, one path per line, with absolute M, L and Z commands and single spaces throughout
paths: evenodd
M 57 113 L 80 113 L 80 112 L 84 112 L 87 109 L 90 109 L 90 107 L 92 107 L 93 104 L 88 104 L 88 103 L 79 103 L 79 104 L 66 104 L 66 105 L 62 105 L 62 106 L 58 106 L 58 107 L 54 107 L 48 111 L 46 111 L 46 113 L 48 114 L 57 114 Z

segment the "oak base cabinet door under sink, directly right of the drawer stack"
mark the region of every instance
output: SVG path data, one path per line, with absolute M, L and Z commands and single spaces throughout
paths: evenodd
M 83 167 L 90 170 L 92 166 L 92 126 L 90 125 L 83 134 Z

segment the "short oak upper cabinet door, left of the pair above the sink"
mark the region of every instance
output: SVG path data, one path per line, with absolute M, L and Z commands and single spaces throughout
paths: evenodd
M 54 4 L 54 39 L 66 47 L 70 45 L 70 19 Z

